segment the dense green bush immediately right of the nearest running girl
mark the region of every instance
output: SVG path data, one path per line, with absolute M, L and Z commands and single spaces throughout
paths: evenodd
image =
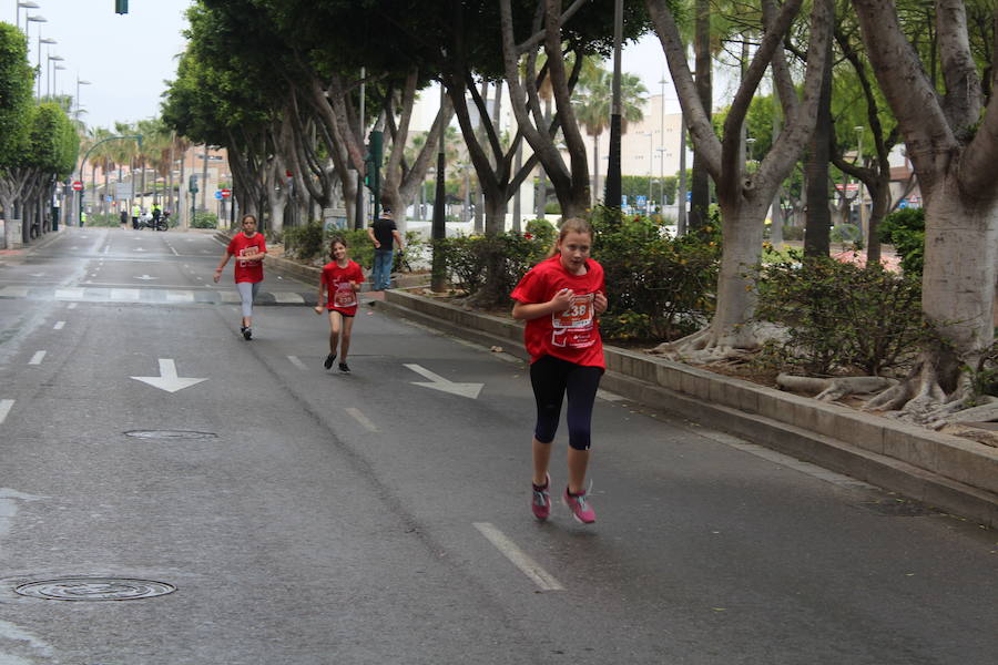
M 605 272 L 609 309 L 600 328 L 610 339 L 672 340 L 704 326 L 714 310 L 721 235 L 714 219 L 679 238 L 661 223 L 597 208 L 593 258 Z

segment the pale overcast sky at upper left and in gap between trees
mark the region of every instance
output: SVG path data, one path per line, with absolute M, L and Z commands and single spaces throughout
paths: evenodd
M 26 0 L 21 0 L 26 1 Z M 177 55 L 184 50 L 181 31 L 185 28 L 184 10 L 190 0 L 130 0 L 129 13 L 114 13 L 114 0 L 31 0 L 38 9 L 20 10 L 20 27 L 26 17 L 41 16 L 45 22 L 31 22 L 28 28 L 29 60 L 38 63 L 39 29 L 42 38 L 55 44 L 41 45 L 41 90 L 51 84 L 50 65 L 65 70 L 54 75 L 57 92 L 77 95 L 77 79 L 90 81 L 80 85 L 81 114 L 90 126 L 113 127 L 115 122 L 135 122 L 160 114 L 164 81 L 176 75 Z M 0 0 L 0 20 L 13 23 L 17 0 Z M 6 12 L 6 13 L 4 13 Z M 63 61 L 50 61 L 48 55 Z M 607 62 L 607 69 L 612 63 Z M 645 38 L 623 53 L 624 72 L 641 76 L 651 94 L 660 94 L 659 83 L 665 71 L 665 57 L 658 38 Z M 675 99 L 671 86 L 666 98 Z M 679 111 L 674 101 L 666 110 Z

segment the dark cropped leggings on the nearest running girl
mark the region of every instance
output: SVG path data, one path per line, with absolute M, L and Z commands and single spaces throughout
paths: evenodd
M 550 443 L 558 431 L 561 401 L 568 393 L 569 446 L 589 450 L 592 429 L 592 402 L 603 369 L 584 367 L 553 356 L 543 356 L 530 366 L 530 383 L 537 400 L 537 426 L 533 437 Z

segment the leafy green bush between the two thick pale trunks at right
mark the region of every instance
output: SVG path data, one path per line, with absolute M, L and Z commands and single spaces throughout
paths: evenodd
M 908 362 L 928 331 L 919 280 L 880 266 L 795 252 L 760 267 L 756 287 L 756 317 L 787 328 L 785 359 L 808 374 L 877 376 Z

